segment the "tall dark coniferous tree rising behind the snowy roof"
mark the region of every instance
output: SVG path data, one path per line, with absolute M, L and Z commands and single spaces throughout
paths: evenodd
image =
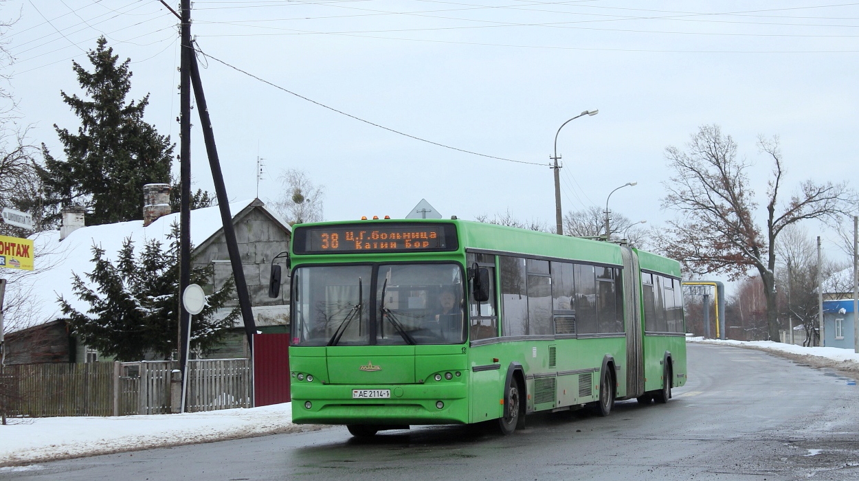
M 84 205 L 89 225 L 143 218 L 143 185 L 170 180 L 174 144 L 143 121 L 149 94 L 125 100 L 131 58 L 119 64 L 104 37 L 87 57 L 92 72 L 76 62 L 72 68 L 88 100 L 60 92 L 81 120 L 76 133 L 54 125 L 65 160 L 54 158 L 42 144 L 46 205 L 54 219 L 65 205 Z

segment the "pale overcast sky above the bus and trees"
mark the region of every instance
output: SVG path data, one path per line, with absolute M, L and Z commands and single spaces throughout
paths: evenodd
M 174 0 L 169 0 L 172 6 Z M 718 124 L 754 161 L 759 134 L 781 137 L 786 186 L 856 187 L 859 3 L 539 0 L 248 0 L 193 3 L 203 52 L 296 94 L 443 149 L 299 99 L 215 60 L 202 80 L 231 199 L 278 195 L 286 168 L 326 187 L 327 220 L 403 217 L 421 198 L 443 216 L 510 210 L 554 223 L 549 156 L 557 128 L 564 212 L 606 203 L 659 226 L 664 150 Z M 79 91 L 71 61 L 104 34 L 131 58 L 131 98 L 178 142 L 177 19 L 157 0 L 7 0 L 4 38 L 22 125 L 54 155 L 53 124 L 76 129 L 59 91 Z M 193 178 L 212 190 L 194 113 Z M 176 149 L 178 153 L 178 148 Z M 178 169 L 177 169 L 178 170 Z M 604 208 L 604 207 L 603 207 Z M 763 212 L 762 212 L 763 213 Z M 761 219 L 763 222 L 763 219 Z M 809 235 L 835 235 L 817 224 Z M 832 242 L 827 252 L 840 255 Z

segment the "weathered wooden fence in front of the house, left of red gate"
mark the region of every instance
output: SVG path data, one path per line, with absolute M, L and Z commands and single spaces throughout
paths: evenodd
M 7 416 L 125 416 L 177 411 L 171 372 L 179 362 L 21 364 L 0 374 L 0 409 Z M 251 407 L 249 359 L 188 362 L 186 411 Z

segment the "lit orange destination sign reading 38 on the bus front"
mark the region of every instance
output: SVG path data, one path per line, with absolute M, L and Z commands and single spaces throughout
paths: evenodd
M 456 243 L 451 224 L 366 222 L 295 229 L 295 253 L 437 252 L 456 250 Z

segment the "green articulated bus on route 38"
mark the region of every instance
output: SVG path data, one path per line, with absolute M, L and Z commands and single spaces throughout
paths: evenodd
M 461 220 L 296 225 L 294 423 L 356 436 L 497 423 L 685 384 L 679 263 L 605 241 Z M 280 289 L 272 261 L 270 295 Z

